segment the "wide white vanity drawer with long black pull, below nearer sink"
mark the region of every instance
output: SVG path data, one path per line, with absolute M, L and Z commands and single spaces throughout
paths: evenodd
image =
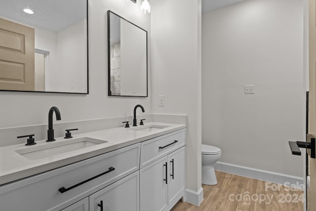
M 2 186 L 0 210 L 61 210 L 138 170 L 139 157 L 138 143 Z M 90 178 L 93 179 L 86 181 Z M 76 187 L 64 193 L 59 191 L 62 187 L 67 189 L 73 186 Z

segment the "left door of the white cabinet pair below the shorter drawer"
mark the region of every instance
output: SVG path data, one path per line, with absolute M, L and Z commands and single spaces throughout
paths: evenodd
M 140 169 L 140 210 L 162 211 L 167 200 L 167 156 Z

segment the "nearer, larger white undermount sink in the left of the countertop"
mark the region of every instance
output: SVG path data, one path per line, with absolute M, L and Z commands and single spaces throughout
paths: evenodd
M 76 139 L 68 139 L 64 141 L 57 141 L 53 143 L 47 143 L 39 146 L 31 146 L 23 149 L 16 150 L 18 154 L 30 159 L 38 160 L 41 158 L 46 158 L 54 155 L 59 155 L 66 152 L 71 152 L 98 144 L 103 144 L 108 141 L 103 141 L 99 139 L 82 137 Z

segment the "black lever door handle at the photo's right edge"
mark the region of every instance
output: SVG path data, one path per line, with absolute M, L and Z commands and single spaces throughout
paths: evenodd
M 307 153 L 311 156 L 311 158 L 316 158 L 316 150 L 315 150 L 315 141 L 316 138 L 312 134 L 306 135 L 305 141 L 289 141 L 288 144 L 290 146 L 292 155 L 301 155 L 300 148 L 307 149 Z

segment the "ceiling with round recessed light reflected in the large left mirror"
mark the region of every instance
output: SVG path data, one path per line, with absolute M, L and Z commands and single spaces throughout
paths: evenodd
M 1 0 L 0 16 L 58 32 L 86 18 L 86 0 Z M 30 8 L 34 14 L 23 11 Z

